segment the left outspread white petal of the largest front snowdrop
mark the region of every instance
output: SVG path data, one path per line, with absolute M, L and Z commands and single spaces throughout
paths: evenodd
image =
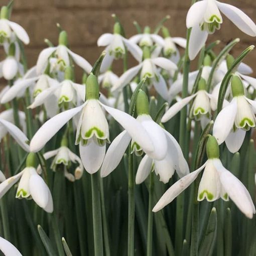
M 66 122 L 68 122 L 74 115 L 82 110 L 83 106 L 84 104 L 79 107 L 75 107 L 59 113 L 45 122 L 31 140 L 31 152 L 40 151 Z

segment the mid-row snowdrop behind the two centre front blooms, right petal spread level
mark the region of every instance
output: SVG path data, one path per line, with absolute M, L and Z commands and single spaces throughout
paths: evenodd
M 124 72 L 114 84 L 111 91 L 121 90 L 125 85 L 129 84 L 131 80 L 139 73 L 141 70 L 141 79 L 149 78 L 150 82 L 153 83 L 156 91 L 164 98 L 168 99 L 168 88 L 165 82 L 165 79 L 160 74 L 160 71 L 157 69 L 161 67 L 166 70 L 176 70 L 177 66 L 172 61 L 163 58 L 151 58 L 150 49 L 144 47 L 143 49 L 144 61 L 138 66 L 135 66 L 126 72 Z

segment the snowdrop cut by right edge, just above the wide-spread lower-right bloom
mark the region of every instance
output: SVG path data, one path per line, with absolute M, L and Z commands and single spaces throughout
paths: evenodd
M 244 96 L 241 79 L 234 75 L 231 81 L 233 99 L 217 115 L 213 125 L 213 136 L 218 144 L 224 141 L 228 150 L 237 152 L 250 127 L 255 127 L 256 101 Z

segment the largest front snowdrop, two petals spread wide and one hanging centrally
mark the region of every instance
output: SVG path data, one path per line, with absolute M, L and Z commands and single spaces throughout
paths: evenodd
M 57 114 L 44 123 L 31 140 L 31 151 L 37 152 L 41 150 L 68 120 L 80 112 L 76 144 L 79 144 L 80 157 L 85 170 L 90 174 L 97 172 L 105 156 L 105 144 L 109 141 L 108 123 L 103 109 L 112 115 L 141 147 L 149 152 L 154 151 L 149 135 L 134 117 L 102 104 L 98 98 L 99 86 L 97 78 L 90 74 L 86 81 L 85 103 Z

